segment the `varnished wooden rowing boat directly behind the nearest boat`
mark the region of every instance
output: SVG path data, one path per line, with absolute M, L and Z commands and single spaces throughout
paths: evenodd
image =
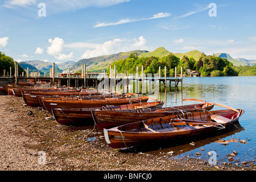
M 94 122 L 100 129 L 109 129 L 111 127 L 125 125 L 127 123 L 142 121 L 151 118 L 164 117 L 180 113 L 192 113 L 196 111 L 211 110 L 214 104 L 196 99 L 185 99 L 183 101 L 200 101 L 200 104 L 191 104 L 174 107 L 162 107 L 154 109 L 138 110 L 93 110 Z

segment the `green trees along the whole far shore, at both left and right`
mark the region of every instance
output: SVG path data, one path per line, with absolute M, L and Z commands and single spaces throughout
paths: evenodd
M 167 68 L 167 75 L 173 76 L 175 74 L 175 67 L 177 68 L 177 74 L 180 74 L 181 67 L 183 67 L 183 75 L 188 75 L 187 70 L 197 71 L 200 76 L 256 76 L 256 65 L 253 66 L 234 66 L 232 62 L 218 56 L 207 56 L 204 53 L 201 54 L 199 60 L 195 60 L 192 56 L 177 57 L 173 53 L 163 57 L 139 57 L 137 53 L 131 53 L 127 59 L 121 59 L 114 61 L 112 67 L 116 66 L 118 73 L 128 71 L 129 73 L 136 73 L 137 66 L 138 72 L 141 74 L 142 65 L 144 68 L 144 74 L 147 73 L 159 73 L 159 67 L 164 75 L 164 67 Z M 0 75 L 7 75 L 5 71 L 14 73 L 14 59 L 5 53 L 0 52 Z M 25 72 L 20 65 L 18 65 L 19 75 Z M 109 67 L 106 71 L 109 73 Z

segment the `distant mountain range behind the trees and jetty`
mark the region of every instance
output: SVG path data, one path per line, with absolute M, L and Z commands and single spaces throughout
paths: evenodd
M 159 47 L 155 49 L 154 51 L 129 51 L 129 52 L 119 52 L 112 55 L 105 55 L 105 56 L 98 56 L 98 57 L 92 57 L 89 59 L 82 59 L 77 62 L 75 61 L 66 61 L 64 63 L 55 63 L 55 72 L 62 72 L 65 71 L 65 69 L 70 68 L 71 71 L 81 71 L 82 64 L 86 64 L 86 69 L 88 69 L 89 72 L 101 72 L 102 69 L 108 68 L 109 64 L 112 64 L 114 61 L 118 61 L 120 59 L 126 59 L 129 57 L 131 53 L 137 53 L 139 57 L 150 57 L 150 56 L 157 56 L 157 57 L 163 57 L 167 56 L 170 51 L 165 49 L 164 47 Z M 204 52 L 200 52 L 197 50 L 185 52 L 185 53 L 174 53 L 177 57 L 182 56 L 188 56 L 193 57 L 196 61 L 199 60 L 200 56 L 203 55 Z M 231 57 L 228 53 L 214 53 L 214 56 L 219 56 L 221 58 L 226 58 L 228 61 L 232 62 L 233 65 L 239 66 L 239 65 L 256 65 L 256 60 L 246 60 L 243 58 L 237 58 L 234 59 Z M 39 70 L 40 72 L 49 73 L 49 70 L 52 68 L 52 63 L 50 62 L 44 62 L 40 60 L 30 60 L 30 61 L 24 61 L 19 63 L 20 66 L 27 70 L 27 67 L 30 68 L 30 72 L 33 70 Z

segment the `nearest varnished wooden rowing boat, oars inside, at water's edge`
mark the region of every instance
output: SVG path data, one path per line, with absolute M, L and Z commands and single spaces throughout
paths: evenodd
M 238 121 L 245 112 L 242 109 L 228 108 L 226 110 L 177 114 L 133 122 L 112 129 L 104 129 L 104 136 L 110 147 L 127 148 L 146 143 L 208 134 L 212 131 L 226 129 L 230 124 Z

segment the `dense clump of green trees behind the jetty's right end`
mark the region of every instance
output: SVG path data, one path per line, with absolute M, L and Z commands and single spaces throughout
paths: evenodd
M 131 53 L 127 59 L 121 59 L 115 61 L 112 64 L 112 68 L 116 65 L 118 73 L 136 73 L 137 66 L 139 68 L 139 74 L 141 74 L 142 65 L 144 73 L 159 73 L 159 67 L 162 70 L 162 76 L 164 74 L 164 67 L 167 67 L 167 75 L 173 76 L 175 73 L 175 67 L 177 73 L 180 74 L 181 67 L 183 67 L 183 74 L 186 74 L 187 69 L 191 71 L 199 71 L 201 76 L 227 76 L 227 75 L 238 75 L 237 69 L 231 62 L 221 57 L 207 56 L 201 53 L 198 61 L 192 56 L 177 57 L 174 53 L 169 53 L 163 57 L 144 57 L 138 56 L 137 53 Z M 109 69 L 108 69 L 109 72 Z

